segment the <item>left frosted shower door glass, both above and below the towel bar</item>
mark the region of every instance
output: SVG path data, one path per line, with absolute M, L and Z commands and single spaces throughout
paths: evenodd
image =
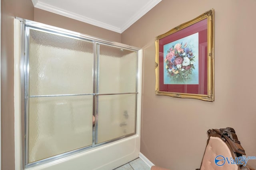
M 29 31 L 27 163 L 92 145 L 93 42 Z

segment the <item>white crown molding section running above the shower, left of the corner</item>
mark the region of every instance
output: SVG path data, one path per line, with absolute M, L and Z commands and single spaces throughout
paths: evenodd
M 34 1 L 37 1 L 37 0 L 34 0 Z M 49 11 L 49 12 L 52 12 L 52 13 L 55 13 L 55 14 L 59 14 L 59 15 L 62 15 L 62 16 L 68 17 L 68 18 L 72 18 L 74 20 L 89 23 L 89 24 L 95 25 L 97 27 L 102 27 L 102 28 L 108 29 L 110 31 L 115 31 L 117 33 L 121 33 L 121 29 L 118 28 L 118 27 L 115 27 L 115 26 L 112 26 L 112 25 L 109 25 L 107 23 L 103 23 L 103 22 L 100 22 L 100 21 L 96 21 L 96 20 L 93 20 L 91 18 L 84 17 L 84 16 L 81 16 L 81 15 L 75 14 L 73 12 L 69 12 L 67 10 L 63 10 L 63 9 L 57 8 L 55 6 L 45 4 L 45 3 L 40 2 L 40 1 L 38 1 L 34 7 L 39 8 L 41 10 L 46 10 L 46 11 Z

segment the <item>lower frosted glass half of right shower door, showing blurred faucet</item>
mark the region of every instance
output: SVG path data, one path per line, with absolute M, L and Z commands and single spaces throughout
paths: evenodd
M 98 143 L 135 133 L 136 94 L 98 96 Z

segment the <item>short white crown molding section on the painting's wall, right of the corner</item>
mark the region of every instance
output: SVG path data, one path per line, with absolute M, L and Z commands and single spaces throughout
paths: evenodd
M 127 28 L 129 28 L 132 24 L 138 21 L 142 16 L 144 16 L 148 11 L 150 11 L 154 6 L 156 6 L 162 0 L 151 0 L 146 4 L 142 9 L 139 10 L 130 20 L 128 20 L 121 28 L 121 32 L 124 32 Z

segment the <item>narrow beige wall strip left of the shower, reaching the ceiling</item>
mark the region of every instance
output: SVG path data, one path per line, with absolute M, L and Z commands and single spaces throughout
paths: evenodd
M 34 19 L 31 0 L 2 0 L 2 170 L 14 170 L 14 16 Z

